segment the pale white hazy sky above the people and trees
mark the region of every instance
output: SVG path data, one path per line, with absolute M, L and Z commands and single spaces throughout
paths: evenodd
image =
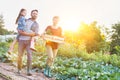
M 80 22 L 97 21 L 110 27 L 120 21 L 120 0 L 0 0 L 0 14 L 5 28 L 16 31 L 15 20 L 21 8 L 27 9 L 26 18 L 33 9 L 39 10 L 40 32 L 51 25 L 53 16 L 60 16 L 64 29 L 76 29 Z M 76 26 L 76 27 L 75 27 Z

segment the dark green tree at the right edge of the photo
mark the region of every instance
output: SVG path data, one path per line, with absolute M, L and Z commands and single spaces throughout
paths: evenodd
M 120 22 L 112 25 L 112 33 L 110 51 L 116 53 L 115 47 L 120 46 Z

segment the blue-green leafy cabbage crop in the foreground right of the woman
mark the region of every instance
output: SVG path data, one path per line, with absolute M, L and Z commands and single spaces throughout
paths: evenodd
M 118 67 L 81 58 L 57 58 L 53 73 L 56 80 L 119 80 L 120 77 Z

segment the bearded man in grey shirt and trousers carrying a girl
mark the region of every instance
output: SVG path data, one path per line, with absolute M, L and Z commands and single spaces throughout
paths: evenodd
M 18 31 L 20 34 L 18 40 L 18 73 L 20 74 L 22 69 L 22 57 L 24 50 L 27 51 L 27 75 L 31 76 L 32 68 L 32 50 L 30 49 L 31 37 L 38 35 L 39 25 L 36 22 L 38 17 L 38 10 L 31 11 L 31 18 L 26 20 L 26 30 L 32 30 L 33 32 L 27 33 L 27 31 Z

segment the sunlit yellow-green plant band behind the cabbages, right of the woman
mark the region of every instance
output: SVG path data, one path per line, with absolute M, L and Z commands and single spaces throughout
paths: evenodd
M 117 55 L 110 55 L 110 53 L 105 51 L 100 52 L 93 52 L 91 54 L 88 54 L 83 46 L 79 46 L 78 48 L 75 48 L 72 44 L 64 44 L 61 45 L 58 51 L 58 55 L 62 57 L 68 57 L 68 58 L 82 58 L 83 60 L 94 60 L 97 62 L 105 62 L 108 64 L 112 64 L 114 66 L 120 67 L 120 56 Z

